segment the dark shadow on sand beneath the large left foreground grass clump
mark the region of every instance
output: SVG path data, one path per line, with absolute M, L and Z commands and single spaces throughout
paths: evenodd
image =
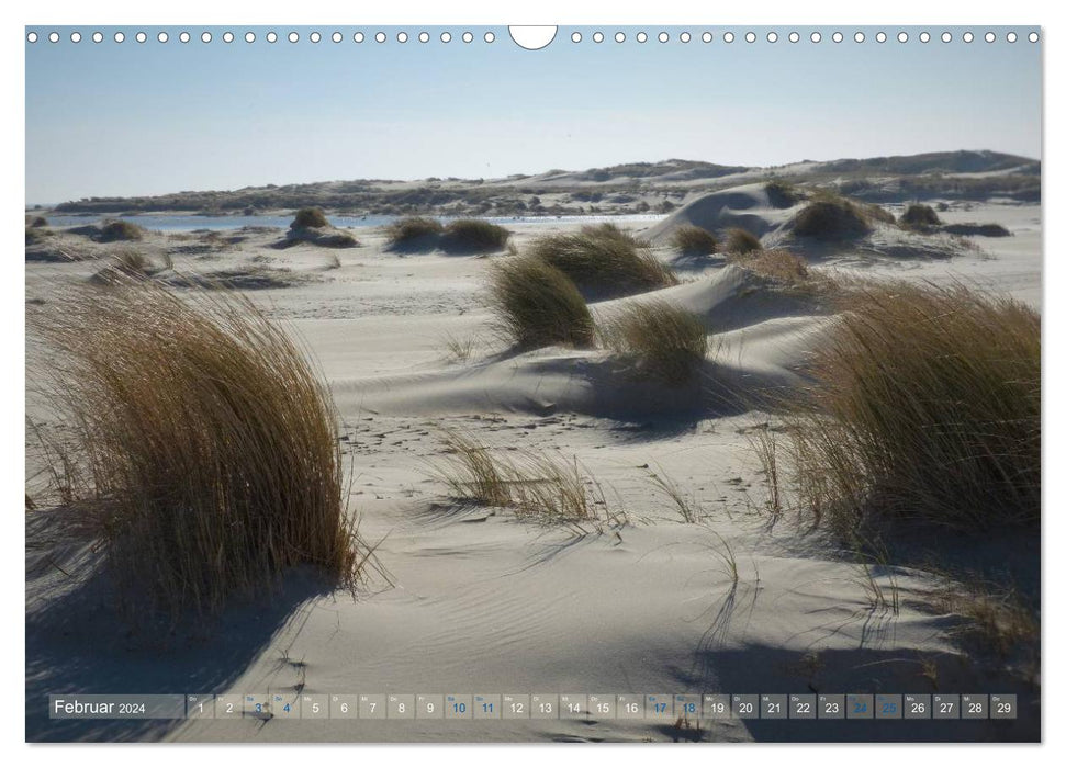
M 48 696 L 223 691 L 299 621 L 308 601 L 334 592 L 317 575 L 296 571 L 277 589 L 265 584 L 269 597 L 235 605 L 217 619 L 184 621 L 177 630 L 150 622 L 133 629 L 119 614 L 98 561 L 83 556 L 71 567 L 66 558 L 61 565 L 52 560 L 51 573 L 27 569 L 27 742 L 165 739 L 182 721 L 51 720 Z

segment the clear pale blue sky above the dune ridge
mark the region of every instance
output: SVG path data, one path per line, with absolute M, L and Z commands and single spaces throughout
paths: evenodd
M 32 27 L 27 203 L 336 179 L 494 178 L 667 158 L 771 166 L 992 149 L 1041 157 L 1042 44 L 965 30 L 560 27 L 541 50 L 506 27 Z M 103 42 L 89 39 L 92 31 Z M 116 30 L 125 42 L 113 41 Z M 178 34 L 188 29 L 189 43 Z M 419 43 L 425 29 L 430 42 Z M 441 31 L 450 43 L 439 39 Z M 742 33 L 755 32 L 747 43 Z M 774 29 L 779 38 L 765 41 Z M 785 35 L 796 29 L 798 43 Z M 925 27 L 923 27 L 925 29 Z M 70 42 L 75 30 L 80 43 Z M 147 33 L 137 43 L 138 31 Z M 158 32 L 169 35 L 159 43 Z M 200 33 L 211 32 L 204 44 Z M 284 35 L 295 30 L 300 42 Z M 314 44 L 313 30 L 323 34 Z M 344 42 L 333 43 L 337 30 Z M 373 35 L 384 30 L 385 43 Z M 406 31 L 409 39 L 395 35 Z M 469 30 L 473 42 L 461 42 Z M 844 39 L 833 43 L 831 31 Z M 866 39 L 854 42 L 862 31 Z M 896 34 L 906 30 L 907 43 Z M 942 43 L 947 30 L 951 43 Z M 59 33 L 51 43 L 46 35 Z M 244 34 L 251 31 L 254 43 Z M 483 41 L 486 31 L 493 43 Z M 581 43 L 573 43 L 577 31 Z M 602 31 L 603 43 L 593 42 Z M 702 42 L 704 31 L 714 35 Z M 616 43 L 617 32 L 626 42 Z

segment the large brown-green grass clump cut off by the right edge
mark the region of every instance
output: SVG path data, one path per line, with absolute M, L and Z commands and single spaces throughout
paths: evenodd
M 1041 517 L 1040 315 L 963 285 L 849 291 L 790 414 L 800 506 L 970 532 Z

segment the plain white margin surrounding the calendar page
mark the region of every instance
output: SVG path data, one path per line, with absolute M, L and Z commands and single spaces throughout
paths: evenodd
M 457 22 L 475 24 L 506 21 L 508 23 L 519 24 L 565 23 L 574 25 L 583 23 L 649 24 L 649 22 L 653 21 L 662 25 L 700 22 L 715 25 L 737 23 L 751 25 L 786 25 L 789 23 L 796 25 L 850 25 L 871 23 L 887 24 L 889 22 L 898 25 L 951 25 L 958 21 L 965 21 L 973 23 L 975 29 L 980 24 L 1018 24 L 1020 22 L 1044 23 L 1051 26 L 1052 30 L 1058 32 L 1066 29 L 1058 26 L 1058 15 L 1057 12 L 1052 11 L 1051 3 L 1035 2 L 1032 0 L 1012 0 L 1011 2 L 999 3 L 998 5 L 987 2 L 951 3 L 949 5 L 946 3 L 930 3 L 928 0 L 896 0 L 890 4 L 862 4 L 855 3 L 853 0 L 832 0 L 818 2 L 817 4 L 812 2 L 783 2 L 781 0 L 762 0 L 759 3 L 715 3 L 705 0 L 703 2 L 658 2 L 642 5 L 626 5 L 617 2 L 617 0 L 614 2 L 592 0 L 584 3 L 576 3 L 573 0 L 538 0 L 536 3 L 530 2 L 521 5 L 504 5 L 498 0 L 463 0 L 461 2 L 459 0 L 452 2 L 412 0 L 403 4 L 396 2 L 352 3 L 350 0 L 348 2 L 329 0 L 315 3 L 314 5 L 292 2 L 222 3 L 217 0 L 184 0 L 180 7 L 176 3 L 145 3 L 143 0 L 139 2 L 133 2 L 131 0 L 94 0 L 92 2 L 53 0 L 53 2 L 38 5 L 31 5 L 30 3 L 8 3 L 2 13 L 4 14 L 5 23 L 3 31 L 5 34 L 3 36 L 4 45 L 0 48 L 0 55 L 4 57 L 3 65 L 4 72 L 7 74 L 2 86 L 4 89 L 3 103 L 9 105 L 19 104 L 23 109 L 24 57 L 22 45 L 19 44 L 18 38 L 22 35 L 19 27 L 31 21 L 33 23 L 45 24 L 83 22 L 114 24 L 136 22 L 146 25 L 170 24 L 175 21 L 195 22 L 198 24 L 233 22 L 256 24 L 269 21 L 274 24 L 291 23 L 294 25 L 322 21 L 335 21 L 338 23 L 344 21 L 358 21 L 359 23 L 369 24 L 433 24 Z M 1047 30 L 1044 31 L 1043 36 L 1045 39 L 1050 36 Z M 1045 46 L 1044 57 L 1044 136 L 1046 136 L 1048 133 L 1047 125 L 1059 126 L 1057 128 L 1059 133 L 1063 129 L 1062 97 L 1059 94 L 1059 83 L 1054 79 L 1054 74 L 1056 71 L 1066 71 L 1066 68 L 1063 67 L 1062 55 L 1054 44 Z M 10 218 L 18 212 L 20 200 L 24 199 L 24 190 L 19 187 L 21 182 L 18 181 L 24 178 L 24 120 L 14 124 L 9 122 L 7 128 L 7 142 L 4 142 L 4 146 L 8 160 L 4 169 L 8 171 L 5 174 L 8 181 L 2 190 L 3 206 L 0 210 Z M 1043 200 L 1045 201 L 1045 206 L 1048 206 L 1047 213 L 1044 214 L 1045 253 L 1052 255 L 1052 258 L 1045 260 L 1043 281 L 1045 295 L 1055 296 L 1066 290 L 1066 284 L 1064 284 L 1063 280 L 1063 273 L 1066 267 L 1062 264 L 1062 259 L 1054 258 L 1056 253 L 1059 256 L 1066 253 L 1066 242 L 1064 242 L 1062 233 L 1056 224 L 1058 217 L 1047 214 L 1052 213 L 1052 206 L 1057 205 L 1058 197 L 1055 193 L 1055 182 L 1061 172 L 1061 163 L 1056 162 L 1054 153 L 1047 154 L 1046 149 L 1043 153 L 1042 160 L 1044 161 L 1045 169 L 1045 192 Z M 10 226 L 10 221 L 5 229 L 7 237 L 9 238 L 9 248 L 4 251 L 8 255 L 8 258 L 3 260 L 3 270 L 5 273 L 0 279 L 0 285 L 2 285 L 0 290 L 5 292 L 3 296 L 5 301 L 0 303 L 0 307 L 2 307 L 0 312 L 3 313 L 0 321 L 3 323 L 7 331 L 2 336 L 3 354 L 8 361 L 14 364 L 13 361 L 15 358 L 23 359 L 24 335 L 21 331 L 24 320 L 24 282 L 22 276 L 23 267 L 21 267 L 23 262 L 13 258 L 13 255 L 19 252 L 16 247 L 22 248 L 23 246 L 14 242 L 16 230 L 15 227 Z M 1059 389 L 1061 387 L 1057 385 L 1063 380 L 1063 359 L 1064 352 L 1066 352 L 1064 350 L 1066 326 L 1062 321 L 1062 316 L 1056 308 L 1055 302 L 1044 301 L 1043 313 L 1046 341 L 1050 343 L 1045 348 L 1044 377 L 1047 383 L 1053 383 L 1055 389 Z M 23 443 L 21 436 L 23 418 L 20 413 L 20 406 L 23 403 L 24 393 L 22 392 L 22 382 L 18 377 L 9 377 L 4 382 L 3 387 L 3 402 L 8 404 L 3 413 L 5 421 L 3 426 L 7 427 L 4 434 L 7 438 L 3 443 L 5 461 L 0 462 L 0 467 L 2 467 L 0 472 L 3 473 L 4 498 L 11 502 L 7 507 L 8 513 L 3 516 L 3 524 L 10 527 L 10 530 L 4 531 L 4 533 L 9 534 L 4 537 L 4 540 L 11 542 L 21 541 L 24 535 L 22 521 L 14 512 L 16 509 L 14 506 L 15 484 L 16 482 L 21 483 L 19 475 L 22 468 L 21 458 L 23 454 Z M 1047 384 L 1045 383 L 1045 392 L 1048 391 L 1046 387 Z M 1062 465 L 1063 462 L 1056 460 L 1062 460 L 1063 458 L 1061 438 L 1064 428 L 1062 416 L 1063 406 L 1059 405 L 1057 397 L 1048 397 L 1045 399 L 1043 408 L 1045 421 L 1045 464 L 1046 466 Z M 1057 504 L 1062 500 L 1062 486 L 1055 481 L 1055 473 L 1045 473 L 1045 507 L 1054 511 L 1063 506 L 1062 504 Z M 1045 551 L 1055 551 L 1058 549 L 1052 549 L 1047 544 L 1050 541 L 1054 541 L 1056 544 L 1062 543 L 1063 523 L 1056 519 L 1057 517 L 1052 513 L 1044 520 L 1046 537 Z M 24 569 L 21 563 L 22 558 L 18 556 L 19 553 L 8 552 L 7 554 L 8 556 L 3 558 L 4 576 L 7 577 L 3 580 L 3 605 L 8 611 L 23 611 Z M 1043 558 L 1045 567 L 1043 594 L 1057 595 L 1062 592 L 1062 561 L 1063 558 L 1056 558 L 1055 562 L 1048 562 L 1046 557 Z M 1047 640 L 1052 636 L 1056 639 L 1062 636 L 1062 617 L 1056 612 L 1048 613 L 1047 611 L 1043 611 L 1043 622 L 1044 645 L 1051 647 L 1053 644 L 1048 643 Z M 9 642 L 14 648 L 22 650 L 23 654 L 21 655 L 24 657 L 23 633 L 15 633 L 15 636 L 9 639 Z M 19 654 L 15 654 L 16 658 L 18 656 Z M 1054 656 L 1050 663 L 1048 659 L 1043 659 L 1043 665 L 1044 698 L 1046 700 L 1051 696 L 1057 694 L 1059 689 L 1063 688 L 1062 675 L 1058 671 L 1062 665 Z M 14 700 L 14 703 L 9 703 L 9 705 L 13 710 L 16 710 L 16 712 L 9 712 L 7 718 L 0 719 L 0 722 L 2 722 L 2 726 L 0 726 L 2 731 L 0 733 L 3 734 L 5 744 L 24 741 L 24 721 L 20 716 L 21 711 L 18 711 L 22 697 L 16 694 L 11 698 Z M 1029 748 L 1026 750 L 1024 758 L 1028 764 L 1050 764 L 1053 755 L 1062 750 L 1064 736 L 1061 734 L 1048 732 L 1045 727 L 1044 739 L 1048 747 L 1041 749 Z M 961 748 L 966 750 L 964 759 L 977 766 L 1001 765 L 1003 760 L 1012 759 L 1011 755 L 1008 755 L 1008 750 L 1011 747 L 992 745 L 992 748 L 988 748 L 988 746 L 981 745 L 978 747 L 975 745 L 963 746 Z M 295 757 L 293 749 L 299 748 L 271 745 L 271 748 L 278 747 L 287 749 L 287 754 L 278 754 L 280 759 L 287 761 Z M 146 752 L 149 748 L 154 749 L 150 754 Z M 389 764 L 400 760 L 401 765 L 407 765 L 415 760 L 428 760 L 434 764 L 435 768 L 441 765 L 459 763 L 468 766 L 472 761 L 482 760 L 485 763 L 491 760 L 493 764 L 505 760 L 508 765 L 525 766 L 539 764 L 543 760 L 557 761 L 560 757 L 563 757 L 558 750 L 553 750 L 549 755 L 547 749 L 550 748 L 548 745 L 538 745 L 535 748 L 530 748 L 529 745 L 525 747 L 479 746 L 452 747 L 444 750 L 433 748 L 433 752 L 430 752 L 429 748 L 418 745 L 406 747 L 378 746 L 363 747 L 360 749 L 358 758 L 355 759 L 359 759 L 360 761 L 375 759 L 389 761 Z M 630 761 L 636 763 L 638 759 L 649 759 L 649 756 L 642 752 L 622 750 L 614 746 L 607 746 L 606 748 L 611 750 L 609 759 L 613 763 L 620 763 L 622 766 L 629 765 Z M 705 746 L 704 748 L 707 747 Z M 890 765 L 895 768 L 900 760 L 924 760 L 925 758 L 951 759 L 947 750 L 960 748 L 960 746 L 871 749 L 865 746 L 799 747 L 797 745 L 789 745 L 755 749 L 752 749 L 750 746 L 742 748 L 750 750 L 744 753 L 743 756 L 732 754 L 729 756 L 729 759 L 742 759 L 745 768 L 749 766 L 761 767 L 763 765 L 770 766 L 772 764 L 778 764 L 784 757 L 779 752 L 783 748 L 795 750 L 797 757 L 803 763 L 807 763 L 808 759 L 821 763 L 829 759 L 835 761 L 851 758 L 862 760 L 864 768 L 882 765 Z M 899 748 L 905 748 L 906 753 L 898 752 Z M 322 765 L 330 765 L 332 760 L 354 759 L 352 754 L 348 749 L 350 749 L 349 746 L 321 746 L 314 750 L 313 755 L 308 755 L 307 757 L 316 763 L 322 761 Z M 914 754 L 916 750 L 921 754 Z M 262 756 L 261 749 L 258 752 L 258 756 Z M 109 766 L 141 766 L 144 761 L 150 760 L 154 765 L 167 767 L 171 765 L 184 766 L 190 755 L 186 752 L 186 748 L 180 750 L 159 747 L 130 749 L 117 746 L 93 746 L 90 753 L 83 747 L 67 746 L 59 749 L 35 747 L 32 757 L 25 753 L 23 753 L 22 757 L 32 759 L 35 766 L 42 767 L 53 764 L 59 765 L 61 761 L 61 765 L 68 768 L 71 760 L 86 761 L 88 765 L 96 764 L 98 760 L 102 764 L 105 760 Z M 202 759 L 204 757 L 211 760 L 240 759 L 233 749 L 214 746 L 197 747 L 195 758 Z M 587 760 L 590 755 L 568 753 L 565 757 Z M 655 757 L 660 757 L 660 755 Z M 715 758 L 719 759 L 720 757 L 720 755 L 715 756 Z M 1062 757 L 1063 755 L 1059 755 L 1056 761 L 1061 763 Z M 700 759 L 714 758 L 708 754 L 703 755 Z

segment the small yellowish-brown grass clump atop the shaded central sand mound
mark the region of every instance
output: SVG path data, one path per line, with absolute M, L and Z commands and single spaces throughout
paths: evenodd
M 699 318 L 664 301 L 633 303 L 599 326 L 605 347 L 636 361 L 641 375 L 684 384 L 699 371 L 709 346 Z

